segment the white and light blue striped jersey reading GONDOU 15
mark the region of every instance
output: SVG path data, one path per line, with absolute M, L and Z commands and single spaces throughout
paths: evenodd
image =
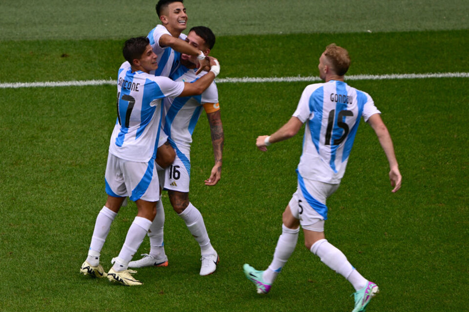
M 299 174 L 311 180 L 340 183 L 357 134 L 360 117 L 379 114 L 373 99 L 345 82 L 307 86 L 293 116 L 306 123 Z

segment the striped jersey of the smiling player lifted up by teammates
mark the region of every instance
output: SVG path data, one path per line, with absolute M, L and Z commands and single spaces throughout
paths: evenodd
M 147 36 L 150 40 L 150 45 L 153 49 L 153 52 L 158 56 L 158 69 L 154 72 L 150 72 L 150 74 L 154 74 L 155 76 L 170 77 L 171 68 L 177 67 L 181 54 L 177 51 L 174 51 L 170 47 L 160 46 L 160 37 L 165 34 L 171 36 L 170 32 L 168 29 L 166 29 L 165 26 L 157 25 L 149 32 Z M 181 40 L 186 40 L 186 37 L 187 36 L 184 34 L 179 35 L 179 39 Z

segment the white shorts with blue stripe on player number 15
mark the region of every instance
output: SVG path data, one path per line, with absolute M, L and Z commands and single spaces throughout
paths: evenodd
M 326 199 L 339 185 L 303 179 L 298 175 L 297 191 L 288 205 L 303 229 L 324 232 L 324 220 L 327 219 Z

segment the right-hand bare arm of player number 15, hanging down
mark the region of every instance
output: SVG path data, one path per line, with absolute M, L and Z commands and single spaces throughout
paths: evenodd
M 396 155 L 394 154 L 394 146 L 392 144 L 391 136 L 384 125 L 383 119 L 380 114 L 374 114 L 368 118 L 367 122 L 373 128 L 380 141 L 381 147 L 386 154 L 387 161 L 389 162 L 389 179 L 391 180 L 391 186 L 393 186 L 392 193 L 397 192 L 401 188 L 402 176 L 399 172 L 399 165 L 397 163 Z

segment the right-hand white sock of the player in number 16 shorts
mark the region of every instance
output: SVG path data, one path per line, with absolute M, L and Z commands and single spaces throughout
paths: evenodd
M 189 232 L 194 236 L 195 240 L 199 243 L 200 254 L 215 254 L 215 250 L 210 243 L 209 234 L 205 228 L 204 218 L 200 214 L 197 208 L 192 203 L 181 213 L 179 216 L 186 223 Z

